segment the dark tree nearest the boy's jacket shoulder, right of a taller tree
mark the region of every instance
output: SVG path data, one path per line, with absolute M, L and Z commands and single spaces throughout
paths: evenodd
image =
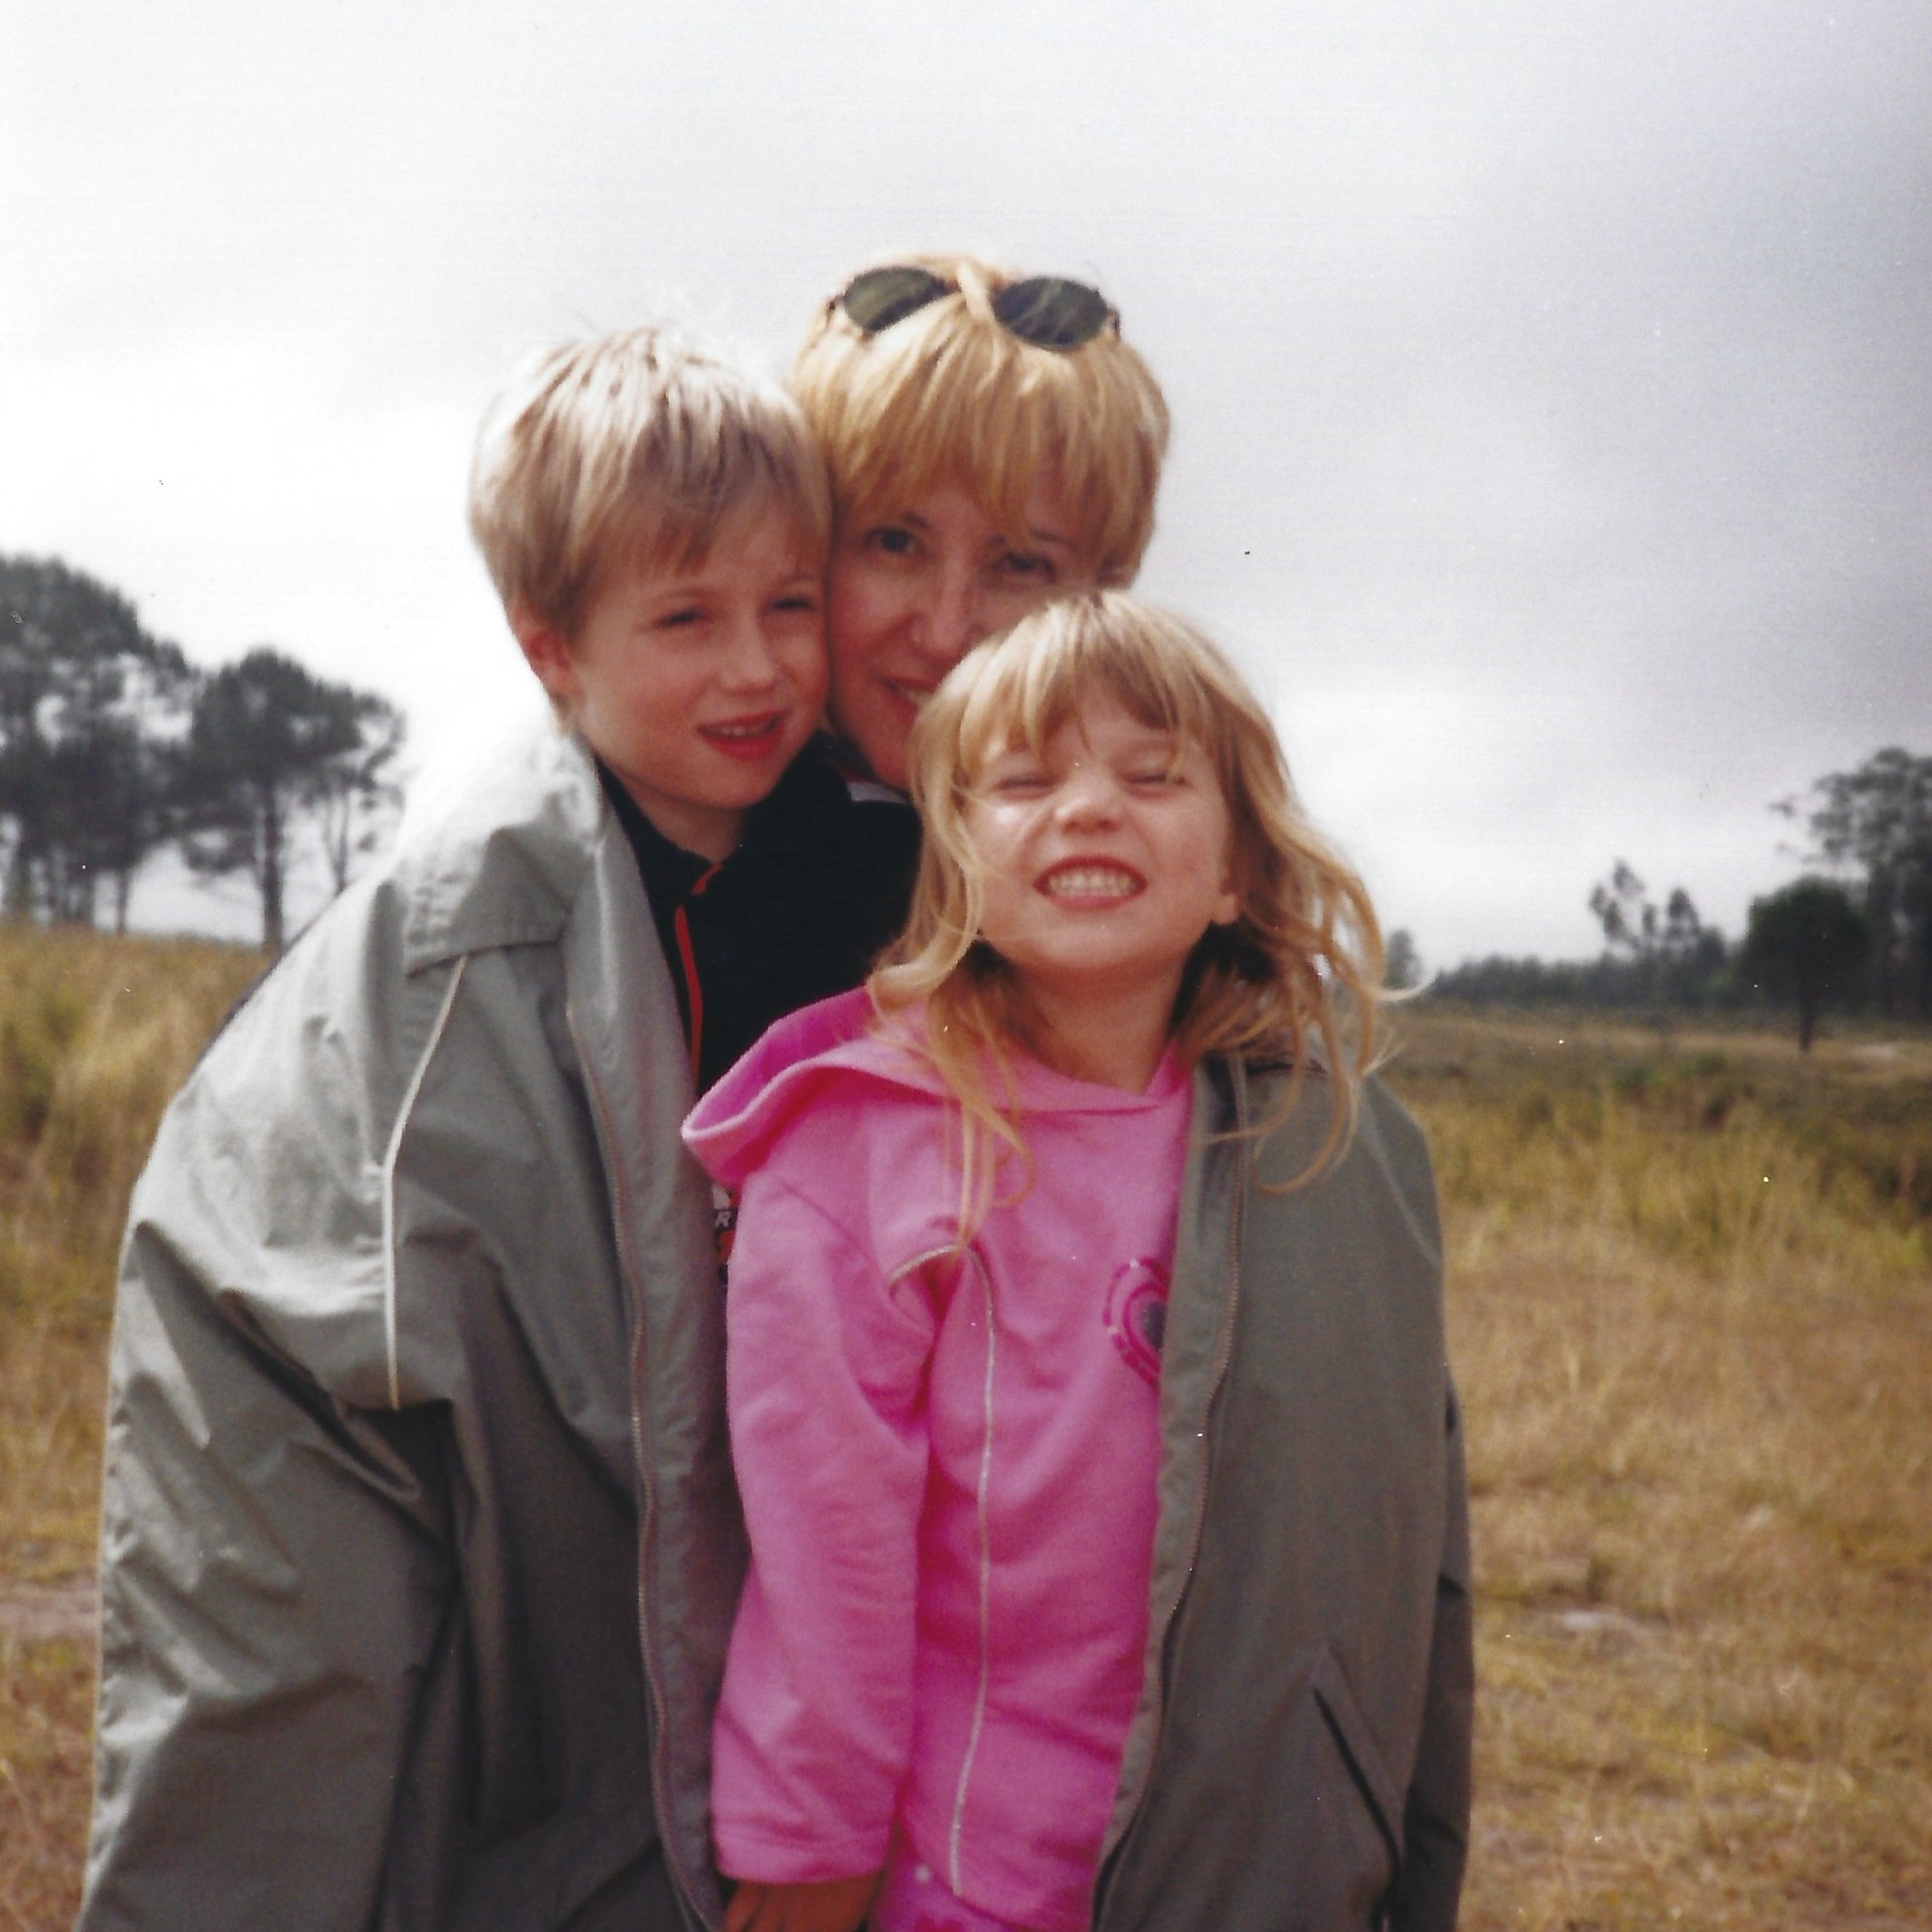
M 315 827 L 340 889 L 371 813 L 394 798 L 400 744 L 402 719 L 381 697 L 249 651 L 195 696 L 176 788 L 182 856 L 205 877 L 245 873 L 261 941 L 278 952 L 299 831 Z

